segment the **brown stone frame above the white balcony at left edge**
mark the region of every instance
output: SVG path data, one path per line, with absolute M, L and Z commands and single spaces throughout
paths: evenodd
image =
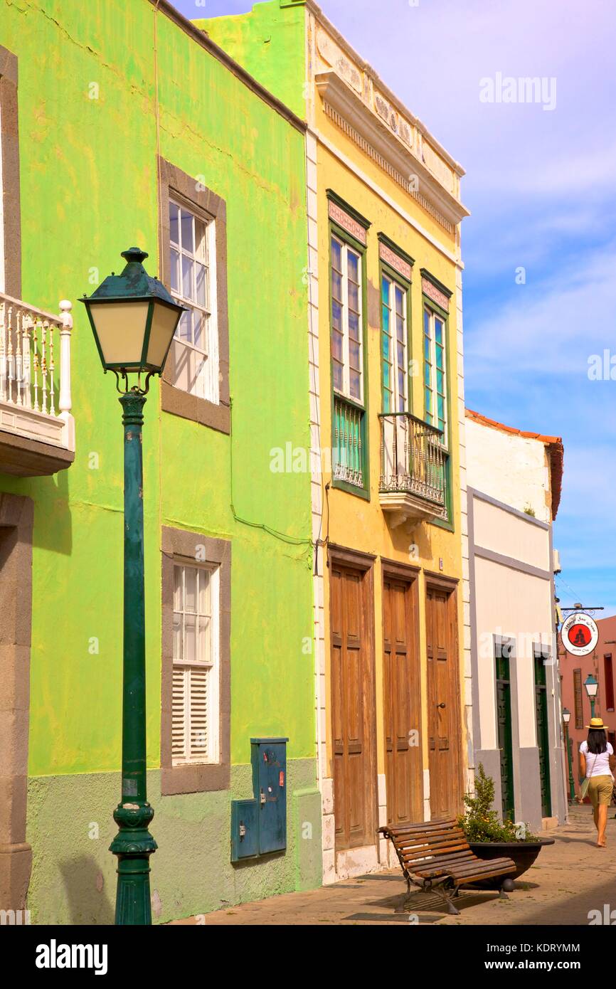
M 4 293 L 22 295 L 17 55 L 0 45 L 0 126 L 2 128 L 2 218 Z

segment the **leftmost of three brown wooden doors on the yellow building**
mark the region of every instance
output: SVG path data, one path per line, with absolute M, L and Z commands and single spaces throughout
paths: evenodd
M 336 851 L 375 845 L 372 570 L 331 560 L 331 703 Z

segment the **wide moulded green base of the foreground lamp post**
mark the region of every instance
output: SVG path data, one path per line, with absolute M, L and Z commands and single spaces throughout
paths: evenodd
M 120 830 L 109 847 L 118 855 L 116 925 L 148 926 L 152 923 L 149 892 L 149 856 L 157 845 L 147 826 L 154 816 L 148 803 L 119 804 L 114 820 Z

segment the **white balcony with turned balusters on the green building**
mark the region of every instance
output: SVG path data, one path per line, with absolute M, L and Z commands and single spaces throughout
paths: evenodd
M 0 293 L 0 474 L 42 477 L 74 460 L 72 306 L 59 308 L 44 313 Z

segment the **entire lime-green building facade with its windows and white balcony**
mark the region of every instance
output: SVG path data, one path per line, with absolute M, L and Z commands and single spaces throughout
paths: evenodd
M 310 445 L 303 123 L 165 0 L 3 4 L 0 121 L 0 908 L 113 922 L 122 425 L 75 303 L 132 244 L 188 307 L 143 430 L 154 921 L 318 885 L 310 476 L 272 468 Z M 271 737 L 286 849 L 237 865 Z

